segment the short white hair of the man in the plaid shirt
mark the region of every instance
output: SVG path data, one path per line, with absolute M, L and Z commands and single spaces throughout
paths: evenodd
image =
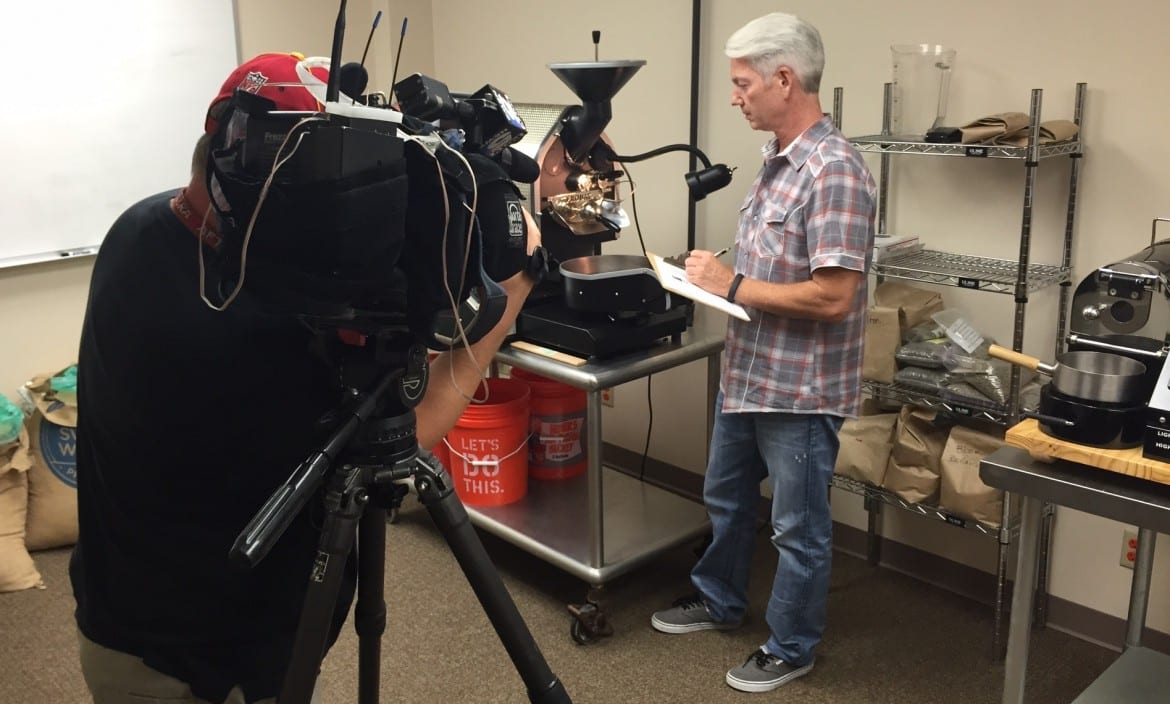
M 723 53 L 730 58 L 748 61 L 765 77 L 786 65 L 797 75 L 805 92 L 820 91 L 825 47 L 817 28 L 796 15 L 773 12 L 756 18 L 728 39 Z

